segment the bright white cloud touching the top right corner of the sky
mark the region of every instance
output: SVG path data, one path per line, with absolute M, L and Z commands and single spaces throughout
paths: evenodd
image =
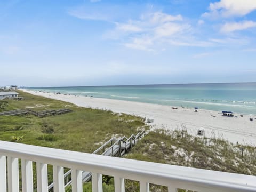
M 255 0 L 220 0 L 219 2 L 210 3 L 210 12 L 206 12 L 206 17 L 242 17 L 256 10 Z

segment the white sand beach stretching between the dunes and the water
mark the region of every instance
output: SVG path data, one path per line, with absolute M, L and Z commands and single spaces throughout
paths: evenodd
M 254 121 L 249 121 L 249 115 L 241 117 L 240 114 L 234 114 L 234 117 L 227 117 L 213 110 L 198 109 L 196 113 L 191 108 L 172 109 L 171 106 L 150 103 L 21 90 L 34 95 L 71 102 L 81 107 L 107 109 L 116 113 L 146 117 L 146 119 L 154 118 L 154 122 L 150 123 L 152 129 L 182 130 L 182 127 L 186 127 L 188 133 L 192 135 L 197 135 L 197 130 L 201 129 L 205 131 L 205 137 L 222 138 L 233 143 L 256 146 L 255 116 Z

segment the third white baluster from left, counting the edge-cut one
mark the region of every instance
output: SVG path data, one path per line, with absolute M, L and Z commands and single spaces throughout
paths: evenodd
M 22 191 L 33 192 L 32 162 L 21 159 Z

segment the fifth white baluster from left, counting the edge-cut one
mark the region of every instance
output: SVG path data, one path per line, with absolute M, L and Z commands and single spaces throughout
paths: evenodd
M 53 189 L 57 192 L 64 192 L 64 168 L 53 165 Z

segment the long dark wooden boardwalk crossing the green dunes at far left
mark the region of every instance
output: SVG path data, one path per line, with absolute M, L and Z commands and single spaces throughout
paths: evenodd
M 58 110 L 43 110 L 43 111 L 34 111 L 30 109 L 17 109 L 4 111 L 0 113 L 0 116 L 11 116 L 11 115 L 35 115 L 36 117 L 45 117 L 49 115 L 60 115 L 65 113 L 70 113 L 73 110 L 71 109 L 58 109 Z

